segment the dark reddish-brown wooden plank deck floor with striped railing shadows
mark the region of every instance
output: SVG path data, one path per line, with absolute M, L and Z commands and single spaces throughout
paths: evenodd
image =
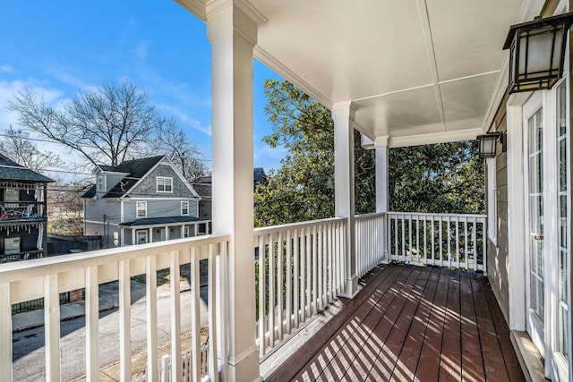
M 487 278 L 389 265 L 265 380 L 525 380 Z

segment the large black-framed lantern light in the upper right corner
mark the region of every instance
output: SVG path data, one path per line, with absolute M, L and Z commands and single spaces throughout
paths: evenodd
M 503 49 L 509 52 L 509 93 L 551 89 L 563 73 L 567 31 L 573 13 L 509 27 Z

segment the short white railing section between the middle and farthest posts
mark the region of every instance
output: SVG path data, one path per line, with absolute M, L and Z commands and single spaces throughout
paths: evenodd
M 384 259 L 384 221 L 386 214 L 355 216 L 356 273 L 364 276 Z

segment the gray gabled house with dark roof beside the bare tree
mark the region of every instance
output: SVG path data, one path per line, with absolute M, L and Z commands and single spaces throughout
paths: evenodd
M 84 234 L 101 235 L 104 248 L 207 233 L 199 195 L 167 156 L 96 166 L 96 184 L 84 199 Z

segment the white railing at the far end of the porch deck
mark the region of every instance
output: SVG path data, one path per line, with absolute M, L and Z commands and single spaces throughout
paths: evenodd
M 486 272 L 485 215 L 389 212 L 389 259 Z

